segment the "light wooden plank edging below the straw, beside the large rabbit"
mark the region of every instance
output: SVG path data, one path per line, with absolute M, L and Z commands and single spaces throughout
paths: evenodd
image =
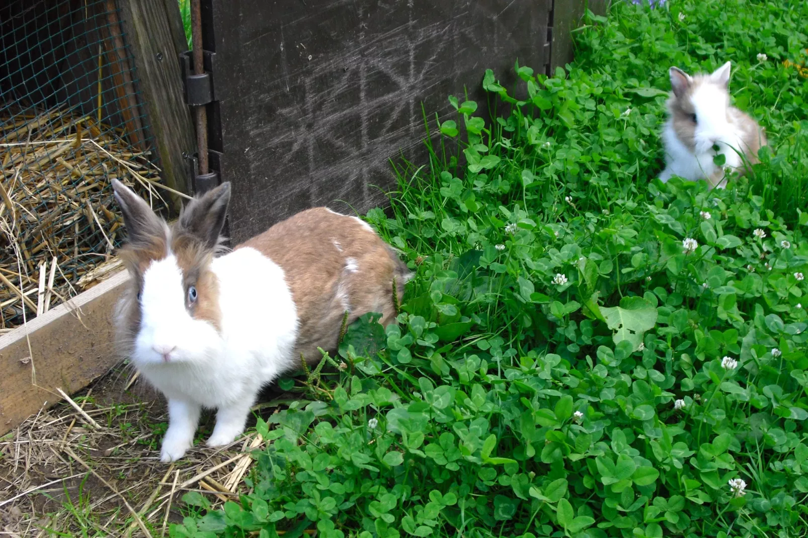
M 0 435 L 119 361 L 112 310 L 128 279 L 119 271 L 0 337 Z

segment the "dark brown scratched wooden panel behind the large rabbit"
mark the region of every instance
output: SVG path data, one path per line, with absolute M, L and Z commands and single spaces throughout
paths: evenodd
M 446 114 L 486 68 L 508 82 L 546 61 L 549 0 L 211 1 L 234 242 L 313 205 L 383 203 L 389 159 L 423 162 L 422 102 Z

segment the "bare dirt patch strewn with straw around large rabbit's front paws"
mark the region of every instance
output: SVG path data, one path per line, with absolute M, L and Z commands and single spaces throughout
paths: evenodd
M 168 536 L 186 510 L 185 492 L 221 503 L 248 491 L 250 448 L 263 444 L 255 431 L 207 448 L 201 440 L 213 415 L 205 414 L 194 448 L 166 465 L 159 460 L 165 402 L 130 368 L 72 400 L 81 413 L 63 402 L 0 438 L 0 537 Z

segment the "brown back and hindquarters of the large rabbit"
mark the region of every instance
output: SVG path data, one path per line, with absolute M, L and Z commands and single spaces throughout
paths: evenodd
M 300 326 L 296 356 L 321 358 L 317 347 L 334 350 L 345 312 L 347 323 L 368 312 L 395 317 L 393 278 L 399 300 L 406 266 L 368 225 L 326 208 L 289 217 L 236 248 L 258 250 L 285 273 Z

